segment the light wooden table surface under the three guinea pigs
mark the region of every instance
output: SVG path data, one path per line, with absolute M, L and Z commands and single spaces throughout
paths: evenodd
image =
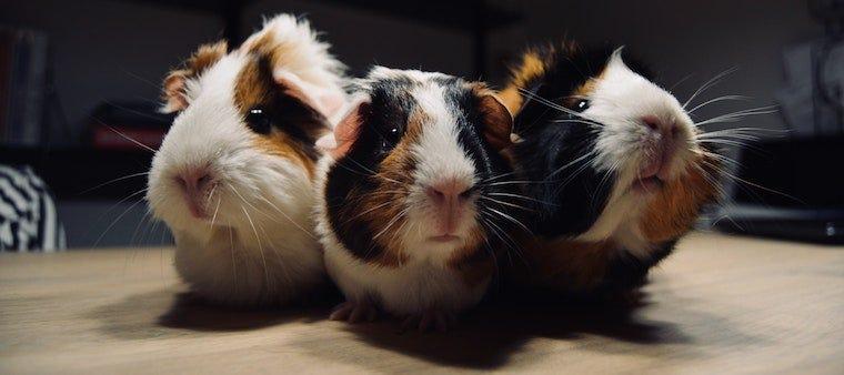
M 170 249 L 0 255 L 0 374 L 844 374 L 844 249 L 692 234 L 631 312 L 488 306 L 446 334 L 180 296 Z

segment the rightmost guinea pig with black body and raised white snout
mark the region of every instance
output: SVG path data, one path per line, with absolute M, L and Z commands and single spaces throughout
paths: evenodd
M 625 294 L 667 256 L 721 188 L 721 158 L 676 98 L 621 49 L 526 52 L 502 98 L 536 215 L 522 283 Z

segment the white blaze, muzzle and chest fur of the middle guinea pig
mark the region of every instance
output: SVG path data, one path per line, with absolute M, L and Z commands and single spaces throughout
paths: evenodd
M 351 255 L 333 233 L 321 194 L 318 197 L 316 230 L 325 249 L 325 267 L 351 302 L 374 302 L 400 316 L 422 314 L 429 310 L 458 313 L 481 300 L 489 280 L 470 286 L 456 271 L 446 266 L 448 260 L 463 243 L 428 241 L 435 217 L 424 189 L 445 179 L 456 179 L 472 186 L 475 183 L 474 163 L 458 142 L 455 110 L 448 103 L 443 88 L 430 80 L 441 74 L 375 68 L 370 77 L 398 75 L 420 83 L 411 95 L 430 121 L 424 124 L 419 143 L 411 151 L 416 159 L 415 183 L 403 202 L 408 219 L 399 235 L 403 239 L 404 249 L 398 250 L 408 260 L 396 267 L 386 267 L 364 263 Z M 320 191 L 324 191 L 324 179 L 333 162 L 331 156 L 320 162 Z M 456 226 L 456 233 L 465 237 L 478 225 L 473 202 L 466 206 L 469 209 Z

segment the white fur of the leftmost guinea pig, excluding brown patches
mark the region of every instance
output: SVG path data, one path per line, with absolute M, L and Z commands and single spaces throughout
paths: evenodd
M 316 59 L 299 77 L 341 90 L 342 78 L 329 78 L 339 67 L 333 58 L 305 57 L 326 45 L 312 38 L 307 23 L 288 28 L 291 19 L 282 14 L 261 31 L 300 42 L 284 69 L 300 74 L 292 61 Z M 331 61 L 318 64 L 320 59 Z M 147 200 L 154 216 L 172 230 L 175 267 L 193 291 L 227 304 L 284 303 L 313 290 L 324 276 L 311 233 L 313 182 L 300 164 L 255 149 L 259 135 L 248 129 L 233 98 L 244 62 L 243 51 L 237 50 L 188 81 L 189 105 L 155 153 Z M 207 168 L 218 179 L 207 202 L 211 220 L 190 214 L 177 182 L 182 171 L 195 168 Z

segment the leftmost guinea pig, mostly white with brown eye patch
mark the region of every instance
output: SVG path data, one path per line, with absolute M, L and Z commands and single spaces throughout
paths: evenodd
M 307 21 L 280 14 L 239 49 L 203 45 L 164 81 L 178 112 L 147 200 L 193 292 L 281 304 L 326 280 L 313 232 L 315 141 L 346 98 L 343 65 Z

